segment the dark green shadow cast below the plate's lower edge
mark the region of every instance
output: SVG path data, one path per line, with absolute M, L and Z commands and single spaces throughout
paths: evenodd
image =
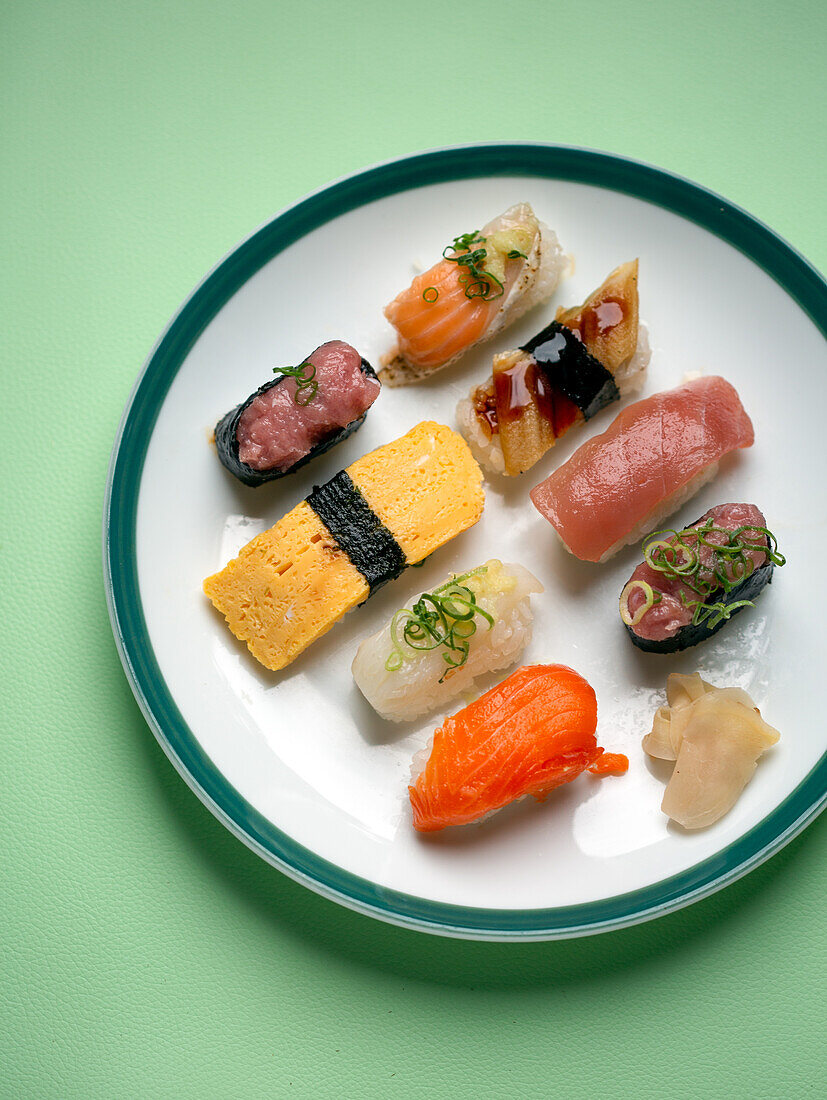
M 148 781 L 167 809 L 164 826 L 174 831 L 181 856 L 198 865 L 207 888 L 255 921 L 272 924 L 277 938 L 304 950 L 333 956 L 357 971 L 378 972 L 419 986 L 465 990 L 554 989 L 622 979 L 633 970 L 686 965 L 708 937 L 745 933 L 756 908 L 780 904 L 795 873 L 795 860 L 827 820 L 814 823 L 773 859 L 726 890 L 703 901 L 618 932 L 547 943 L 478 943 L 411 932 L 374 921 L 320 898 L 279 873 L 235 839 L 181 781 L 134 706 L 134 736 Z M 125 733 L 125 730 L 124 730 Z M 460 842 L 462 843 L 462 842 Z M 186 853 L 186 856 L 185 856 Z M 553 873 L 553 868 L 549 869 Z M 244 917 L 241 917 L 244 920 Z M 262 960 L 266 966 L 266 960 Z

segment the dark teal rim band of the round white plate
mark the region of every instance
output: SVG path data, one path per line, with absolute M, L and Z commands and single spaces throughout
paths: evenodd
M 206 326 L 252 275 L 289 244 L 355 207 L 448 180 L 523 175 L 631 195 L 709 230 L 758 264 L 827 337 L 827 283 L 769 227 L 681 176 L 594 150 L 541 143 L 462 145 L 415 153 L 332 183 L 276 215 L 233 249 L 184 302 L 135 383 L 114 442 L 103 512 L 103 572 L 126 678 L 162 748 L 205 805 L 263 859 L 359 912 L 419 931 L 474 939 L 556 939 L 670 913 L 729 884 L 800 833 L 827 802 L 827 752 L 758 825 L 686 871 L 630 893 L 555 909 L 472 909 L 387 890 L 297 844 L 227 781 L 187 726 L 146 629 L 135 551 L 146 449 L 166 393 Z

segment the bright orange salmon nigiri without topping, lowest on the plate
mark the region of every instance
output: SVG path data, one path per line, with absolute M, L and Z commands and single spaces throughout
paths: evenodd
M 424 770 L 408 788 L 413 827 L 467 825 L 526 794 L 542 802 L 585 769 L 626 771 L 626 757 L 613 754 L 603 765 L 596 728 L 597 700 L 577 672 L 564 664 L 517 669 L 433 735 Z

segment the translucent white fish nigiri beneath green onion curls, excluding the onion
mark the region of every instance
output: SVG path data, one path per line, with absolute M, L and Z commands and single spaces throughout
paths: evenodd
M 449 583 L 452 578 L 448 578 Z M 471 588 L 479 608 L 493 619 L 475 616 L 476 632 L 468 641 L 467 659 L 451 669 L 445 649 L 413 649 L 400 646 L 401 666 L 386 667 L 394 651 L 390 627 L 365 638 L 353 660 L 353 679 L 373 708 L 390 722 L 408 722 L 434 711 L 473 688 L 474 680 L 512 664 L 531 640 L 530 596 L 542 584 L 522 565 L 504 564 L 497 559 L 485 563 L 462 583 Z M 416 600 L 407 608 L 411 609 Z M 448 670 L 448 671 L 446 671 Z

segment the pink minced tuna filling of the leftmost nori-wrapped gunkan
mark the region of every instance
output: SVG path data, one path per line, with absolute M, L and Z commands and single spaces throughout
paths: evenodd
M 378 380 L 362 371 L 362 356 L 343 340 L 317 348 L 307 362 L 316 367 L 319 385 L 311 402 L 296 404 L 296 380 L 288 376 L 241 414 L 239 459 L 253 470 L 288 469 L 359 419 L 378 397 Z

